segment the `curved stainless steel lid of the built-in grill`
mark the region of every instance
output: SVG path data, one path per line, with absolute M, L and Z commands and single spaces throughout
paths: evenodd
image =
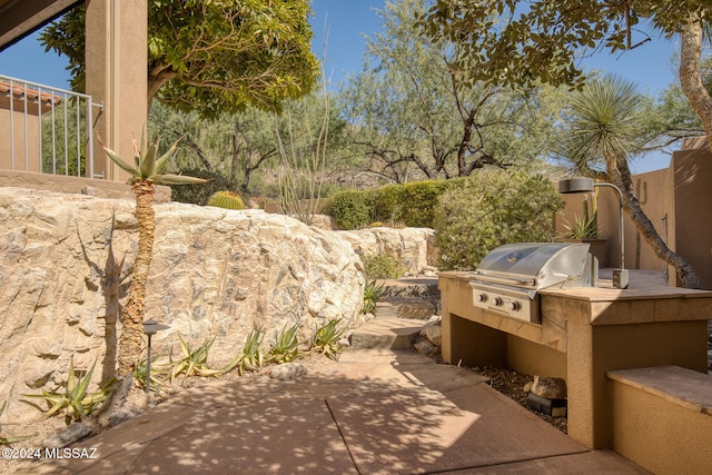
M 589 245 L 577 243 L 520 243 L 500 246 L 487 254 L 475 270 L 482 281 L 534 289 L 587 280 Z

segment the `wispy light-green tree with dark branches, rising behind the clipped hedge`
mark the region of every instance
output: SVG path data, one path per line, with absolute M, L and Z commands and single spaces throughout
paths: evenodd
M 553 130 L 554 92 L 527 99 L 472 82 L 458 69 L 461 46 L 416 34 L 422 12 L 422 1 L 387 2 L 384 32 L 367 41 L 364 72 L 343 90 L 348 117 L 359 126 L 355 140 L 373 158 L 370 171 L 396 182 L 414 170 L 428 179 L 463 177 L 540 155 Z

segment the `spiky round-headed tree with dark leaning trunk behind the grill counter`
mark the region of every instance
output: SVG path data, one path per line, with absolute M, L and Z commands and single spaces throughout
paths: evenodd
M 668 248 L 633 192 L 627 160 L 641 149 L 640 103 L 641 95 L 630 81 L 616 76 L 590 81 L 574 93 L 573 117 L 561 155 L 571 160 L 580 174 L 619 187 L 623 209 L 655 255 L 676 269 L 685 287 L 700 288 L 694 269 Z

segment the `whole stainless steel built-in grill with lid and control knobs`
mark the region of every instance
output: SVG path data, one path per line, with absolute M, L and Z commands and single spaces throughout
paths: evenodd
M 540 289 L 590 287 L 596 280 L 587 244 L 521 243 L 487 254 L 469 285 L 475 307 L 538 324 Z

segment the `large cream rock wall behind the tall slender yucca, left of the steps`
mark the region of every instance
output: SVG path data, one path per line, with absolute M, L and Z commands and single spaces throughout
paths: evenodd
M 112 374 L 138 224 L 134 201 L 0 188 L 0 403 L 3 420 L 37 409 L 21 395 L 55 390 L 97 360 Z M 261 210 L 156 205 L 147 318 L 170 326 L 154 352 L 180 355 L 216 337 L 219 367 L 261 327 L 265 344 L 285 325 L 303 339 L 317 325 L 353 321 L 363 306 L 359 257 L 335 232 Z

